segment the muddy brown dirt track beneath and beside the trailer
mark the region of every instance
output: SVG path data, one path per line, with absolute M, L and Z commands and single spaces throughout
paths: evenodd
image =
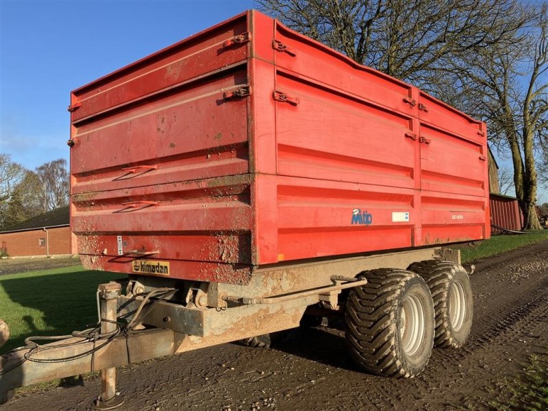
M 295 329 L 272 349 L 235 344 L 121 372 L 120 410 L 486 410 L 504 377 L 548 347 L 548 242 L 488 258 L 472 276 L 475 322 L 462 349 L 434 349 L 423 375 L 360 372 L 338 329 Z M 128 385 L 129 384 L 129 385 Z M 85 410 L 94 382 L 18 397 L 3 409 Z

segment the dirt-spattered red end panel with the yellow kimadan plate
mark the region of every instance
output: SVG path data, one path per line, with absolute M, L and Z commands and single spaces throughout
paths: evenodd
M 91 268 L 247 281 L 249 102 L 226 94 L 248 84 L 247 23 L 73 92 L 72 223 Z

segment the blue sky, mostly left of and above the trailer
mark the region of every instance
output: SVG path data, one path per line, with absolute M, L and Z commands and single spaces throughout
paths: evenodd
M 27 169 L 57 158 L 68 162 L 71 90 L 253 5 L 0 0 L 0 153 Z M 548 202 L 548 191 L 538 197 Z

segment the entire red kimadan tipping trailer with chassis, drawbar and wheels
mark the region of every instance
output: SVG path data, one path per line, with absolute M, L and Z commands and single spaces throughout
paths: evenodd
M 99 287 L 101 337 L 31 353 L 76 356 L 63 375 L 27 361 L 19 385 L 81 372 L 104 336 L 98 407 L 127 347 L 264 345 L 344 316 L 364 370 L 409 377 L 466 340 L 469 277 L 440 246 L 490 236 L 481 121 L 253 10 L 74 90 L 69 111 L 77 252 L 129 283 Z

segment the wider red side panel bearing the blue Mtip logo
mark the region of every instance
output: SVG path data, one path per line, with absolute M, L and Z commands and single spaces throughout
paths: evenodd
M 415 245 L 414 89 L 281 25 L 275 36 L 291 51 L 275 54 L 275 88 L 293 100 L 276 102 L 277 260 Z

